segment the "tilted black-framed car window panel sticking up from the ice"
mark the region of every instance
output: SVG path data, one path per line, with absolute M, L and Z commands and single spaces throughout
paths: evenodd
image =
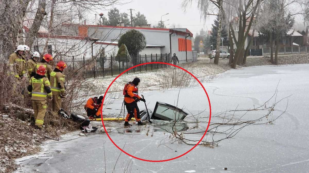
M 175 106 L 169 105 L 167 103 L 157 102 L 151 119 L 161 119 L 167 121 L 182 120 L 187 115 L 188 113 Z

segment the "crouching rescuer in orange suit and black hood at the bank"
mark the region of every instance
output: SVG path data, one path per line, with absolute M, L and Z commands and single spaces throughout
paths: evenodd
M 87 112 L 87 116 L 89 118 L 101 118 L 102 100 L 102 95 L 99 98 L 94 97 L 87 100 L 84 109 Z

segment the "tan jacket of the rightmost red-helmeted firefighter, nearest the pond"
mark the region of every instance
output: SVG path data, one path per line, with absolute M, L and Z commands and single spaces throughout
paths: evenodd
M 64 75 L 61 72 L 52 71 L 49 77 L 53 95 L 65 95 Z

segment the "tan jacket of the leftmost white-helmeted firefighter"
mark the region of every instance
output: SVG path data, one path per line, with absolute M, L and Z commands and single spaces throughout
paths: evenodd
M 16 78 L 19 78 L 25 74 L 26 60 L 23 58 L 23 56 L 20 56 L 17 54 L 17 52 L 14 52 L 9 56 L 9 66 L 9 75 L 14 74 Z

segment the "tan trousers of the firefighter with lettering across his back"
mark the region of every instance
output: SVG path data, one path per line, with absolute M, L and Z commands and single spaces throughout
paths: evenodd
M 42 127 L 47 108 L 46 100 L 43 101 L 32 100 L 32 107 L 34 111 L 35 125 Z

